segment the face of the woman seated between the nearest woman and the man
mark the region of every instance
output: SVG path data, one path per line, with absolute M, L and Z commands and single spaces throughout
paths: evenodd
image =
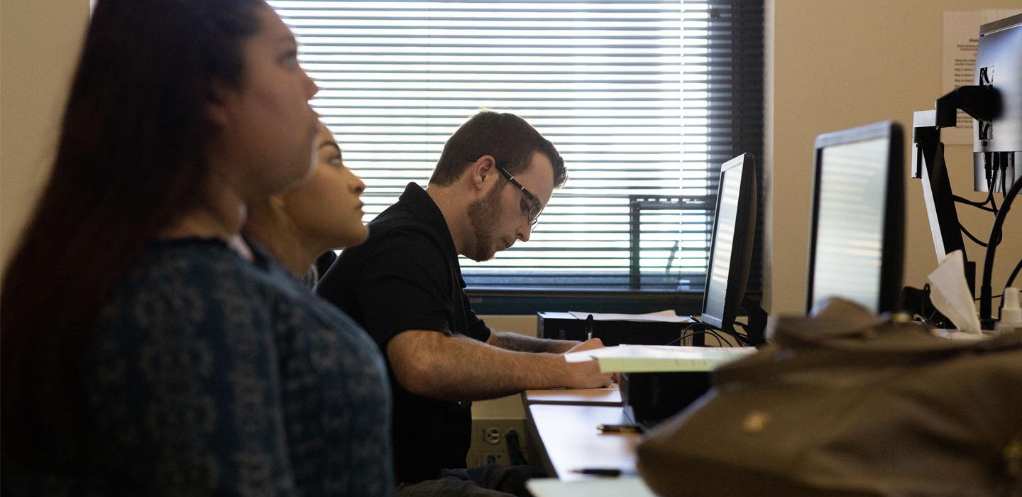
M 323 125 L 315 146 L 318 161 L 313 174 L 283 196 L 284 210 L 307 237 L 330 247 L 357 245 L 369 235 L 360 198 L 366 185 L 344 167 L 340 147 Z

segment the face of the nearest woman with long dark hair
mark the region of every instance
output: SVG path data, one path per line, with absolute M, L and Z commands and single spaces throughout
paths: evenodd
M 319 117 L 309 100 L 319 88 L 298 65 L 290 29 L 269 6 L 257 7 L 259 31 L 242 45 L 238 88 L 222 89 L 213 104 L 222 153 L 244 199 L 284 191 L 311 172 L 309 143 Z

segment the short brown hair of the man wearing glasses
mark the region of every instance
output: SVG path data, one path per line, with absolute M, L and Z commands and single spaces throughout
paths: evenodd
M 518 174 L 528 167 L 536 151 L 543 152 L 554 165 L 554 187 L 560 188 L 567 180 L 567 169 L 550 140 L 513 114 L 480 110 L 448 139 L 429 182 L 439 186 L 454 183 L 482 155 L 493 155 L 509 173 Z

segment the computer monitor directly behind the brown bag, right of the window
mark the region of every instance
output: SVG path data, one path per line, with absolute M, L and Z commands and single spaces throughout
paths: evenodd
M 893 311 L 901 289 L 902 132 L 875 123 L 817 137 L 806 310 L 841 297 Z

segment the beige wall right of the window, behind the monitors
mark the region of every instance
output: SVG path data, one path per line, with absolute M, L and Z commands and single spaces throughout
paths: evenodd
M 769 287 L 775 314 L 804 310 L 816 135 L 898 121 L 905 127 L 908 169 L 912 112 L 933 108 L 933 100 L 944 93 L 943 12 L 1010 7 L 1019 7 L 1018 0 L 768 0 L 768 15 L 774 18 L 768 27 L 766 74 L 774 78 L 768 83 L 766 167 L 773 183 L 768 230 L 773 234 Z M 971 145 L 947 148 L 956 193 L 978 195 L 969 193 Z M 905 187 L 904 284 L 922 286 L 936 256 L 919 180 L 908 180 Z M 973 209 L 965 214 L 963 224 L 986 238 L 992 216 Z M 1022 214 L 1012 214 L 1006 244 L 997 248 L 994 293 L 1022 257 Z M 969 241 L 966 250 L 973 260 L 983 254 Z

